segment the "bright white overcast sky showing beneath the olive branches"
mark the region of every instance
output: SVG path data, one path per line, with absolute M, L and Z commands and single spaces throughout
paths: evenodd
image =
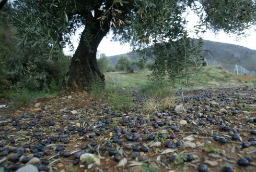
M 194 25 L 196 24 L 197 20 L 199 20 L 199 18 L 197 16 L 195 16 L 194 14 L 190 14 L 187 16 L 187 20 L 189 21 L 188 30 L 191 31 L 191 33 L 189 33 L 189 36 L 194 37 L 192 35 L 193 28 L 194 28 Z M 79 33 L 82 31 L 83 31 L 83 29 L 80 29 L 78 31 L 78 33 L 73 37 L 75 49 L 78 46 Z M 247 36 L 247 37 L 240 36 L 239 39 L 237 39 L 238 37 L 236 35 L 232 35 L 232 34 L 227 35 L 224 32 L 219 32 L 218 34 L 214 34 L 211 31 L 207 31 L 206 33 L 204 33 L 204 35 L 202 35 L 202 38 L 206 39 L 206 40 L 210 40 L 210 41 L 215 41 L 215 42 L 241 45 L 241 46 L 256 50 L 256 40 L 255 40 L 256 32 L 255 32 L 255 30 L 251 29 L 250 31 L 247 31 L 247 33 L 250 34 L 250 36 Z M 109 34 L 102 39 L 102 41 L 98 47 L 99 54 L 104 53 L 107 56 L 113 56 L 113 55 L 124 54 L 126 52 L 131 51 L 129 44 L 120 45 L 119 42 L 111 42 L 111 37 L 112 37 L 112 34 Z M 73 55 L 74 52 L 70 52 L 68 48 L 65 48 L 64 53 L 66 55 Z

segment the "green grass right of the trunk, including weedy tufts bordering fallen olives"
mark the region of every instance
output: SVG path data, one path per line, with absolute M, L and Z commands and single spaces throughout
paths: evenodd
M 110 103 L 110 108 L 114 110 L 131 110 L 133 107 L 133 97 L 131 91 L 138 92 L 140 97 L 155 97 L 166 98 L 173 95 L 177 88 L 183 87 L 185 90 L 190 90 L 191 87 L 184 87 L 180 84 L 171 84 L 168 80 L 153 82 L 148 80 L 149 71 L 122 73 L 109 72 L 105 73 L 106 88 L 103 90 L 95 90 L 95 95 L 100 95 Z M 213 87 L 237 87 L 237 86 L 256 86 L 255 76 L 236 75 L 229 72 L 224 72 L 220 69 L 204 67 L 201 74 L 192 74 L 195 78 L 193 89 L 213 88 Z M 103 96 L 102 96 L 103 95 Z M 97 96 L 96 96 L 97 97 Z

